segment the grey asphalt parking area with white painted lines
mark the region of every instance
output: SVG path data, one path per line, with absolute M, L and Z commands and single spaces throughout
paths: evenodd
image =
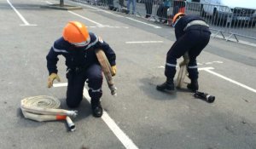
M 200 91 L 214 95 L 207 103 L 185 89 L 174 94 L 155 89 L 165 81 L 166 52 L 175 41 L 173 28 L 151 20 L 77 4 L 80 10 L 47 9 L 54 0 L 0 0 L 0 148 L 142 148 L 255 149 L 255 47 L 212 38 L 198 57 Z M 45 56 L 70 20 L 84 22 L 117 54 L 114 82 L 118 96 L 104 80 L 102 118 L 92 117 L 87 87 L 72 117 L 76 131 L 65 121 L 35 122 L 20 111 L 20 100 L 50 95 L 65 103 L 67 79 L 63 57 L 61 83 L 47 88 Z M 179 59 L 180 62 L 182 59 Z M 178 71 L 177 67 L 177 71 Z

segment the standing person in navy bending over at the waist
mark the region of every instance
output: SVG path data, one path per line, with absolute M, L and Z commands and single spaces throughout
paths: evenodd
M 198 90 L 198 70 L 196 57 L 209 43 L 211 32 L 207 23 L 197 15 L 176 14 L 172 19 L 175 27 L 177 41 L 173 43 L 166 56 L 166 82 L 157 85 L 160 91 L 172 91 L 175 89 L 173 78 L 176 73 L 177 59 L 186 52 L 189 54 L 189 64 L 187 70 L 191 83 L 187 88 L 192 91 Z

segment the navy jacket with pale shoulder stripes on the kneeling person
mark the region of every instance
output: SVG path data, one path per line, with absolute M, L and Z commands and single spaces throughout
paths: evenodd
M 102 49 L 111 66 L 115 65 L 116 55 L 108 45 L 100 37 L 90 32 L 90 43 L 84 47 L 75 47 L 73 44 L 68 43 L 63 37 L 57 39 L 54 45 L 49 50 L 46 56 L 47 68 L 49 74 L 57 73 L 58 55 L 63 55 L 66 58 L 67 69 L 75 69 L 76 67 L 87 68 L 92 64 L 98 63 L 96 58 L 95 49 Z

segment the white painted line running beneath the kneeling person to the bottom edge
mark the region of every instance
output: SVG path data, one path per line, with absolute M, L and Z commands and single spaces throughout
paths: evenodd
M 54 87 L 67 86 L 67 83 L 54 83 Z M 90 95 L 88 90 L 84 88 L 83 95 L 86 100 L 90 103 Z M 108 125 L 108 128 L 112 130 L 113 134 L 122 142 L 126 149 L 138 149 L 138 147 L 133 143 L 133 141 L 126 135 L 122 129 L 109 117 L 108 112 L 103 111 L 102 120 Z

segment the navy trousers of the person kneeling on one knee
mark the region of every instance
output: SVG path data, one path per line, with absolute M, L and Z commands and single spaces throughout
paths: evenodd
M 100 100 L 102 97 L 102 67 L 94 64 L 79 72 L 67 72 L 67 106 L 73 108 L 79 106 L 83 100 L 85 81 L 88 83 L 91 101 Z

